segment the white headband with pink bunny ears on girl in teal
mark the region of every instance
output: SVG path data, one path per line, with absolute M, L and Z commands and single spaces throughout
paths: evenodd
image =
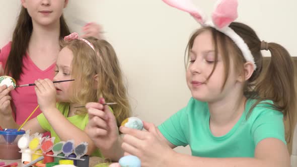
M 212 20 L 207 20 L 202 11 L 194 7 L 191 0 L 163 0 L 163 2 L 169 6 L 189 13 L 201 26 L 213 27 L 230 37 L 242 51 L 246 61 L 252 62 L 254 70 L 256 70 L 256 63 L 248 45 L 229 27 L 229 25 L 238 17 L 237 0 L 218 0 L 212 13 Z

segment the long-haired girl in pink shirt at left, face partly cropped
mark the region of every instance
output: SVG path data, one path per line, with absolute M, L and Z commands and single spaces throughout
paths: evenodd
M 69 35 L 69 28 L 63 17 L 63 9 L 68 0 L 21 0 L 22 9 L 14 30 L 12 42 L 4 46 L 0 53 L 0 75 L 10 75 L 17 85 L 30 84 L 36 79 L 54 76 L 55 61 L 60 51 L 59 40 Z M 100 26 L 87 24 L 83 37 L 100 38 Z M 0 117 L 13 112 L 13 118 L 22 124 L 36 108 L 37 97 L 33 87 L 10 90 L 0 87 Z M 39 115 L 38 109 L 31 118 Z M 11 125 L 0 120 L 0 125 Z

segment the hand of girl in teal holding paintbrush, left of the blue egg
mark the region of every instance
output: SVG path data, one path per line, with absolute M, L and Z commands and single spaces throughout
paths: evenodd
M 118 142 L 119 132 L 116 119 L 107 105 L 100 103 L 88 103 L 86 108 L 89 113 L 89 123 L 86 127 L 87 133 L 95 145 L 103 150 L 110 150 Z

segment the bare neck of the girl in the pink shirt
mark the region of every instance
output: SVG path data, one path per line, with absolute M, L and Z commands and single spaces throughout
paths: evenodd
M 31 46 L 38 48 L 53 48 L 59 46 L 60 22 L 43 26 L 33 22 L 33 31 L 30 38 Z

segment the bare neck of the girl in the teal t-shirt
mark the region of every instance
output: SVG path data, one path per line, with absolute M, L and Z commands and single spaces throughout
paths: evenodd
M 242 94 L 229 94 L 223 100 L 208 103 L 210 122 L 222 126 L 238 121 L 245 109 L 246 98 Z

